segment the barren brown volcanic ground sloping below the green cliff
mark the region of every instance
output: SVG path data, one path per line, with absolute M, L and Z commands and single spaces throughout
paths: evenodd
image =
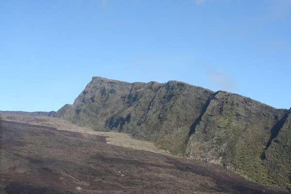
M 0 117 L 1 194 L 288 193 L 215 164 L 160 154 L 126 134 L 97 135 L 49 117 L 8 117 Z

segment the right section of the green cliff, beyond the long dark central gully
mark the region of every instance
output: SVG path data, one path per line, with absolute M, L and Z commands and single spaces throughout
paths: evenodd
M 261 183 L 285 182 L 290 186 L 289 117 L 290 110 L 218 92 L 195 126 L 186 154 L 192 159 L 222 164 Z M 275 178 L 278 175 L 280 179 Z

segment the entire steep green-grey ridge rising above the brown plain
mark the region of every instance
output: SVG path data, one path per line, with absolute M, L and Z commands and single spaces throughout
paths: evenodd
M 221 164 L 251 180 L 291 188 L 290 112 L 179 81 L 93 77 L 57 113 L 78 125 L 156 142 L 176 156 Z

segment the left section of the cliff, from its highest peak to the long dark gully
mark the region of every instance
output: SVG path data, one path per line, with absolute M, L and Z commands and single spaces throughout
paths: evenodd
M 187 83 L 128 83 L 94 77 L 73 105 L 57 113 L 78 125 L 115 130 L 184 154 L 190 126 L 214 94 Z

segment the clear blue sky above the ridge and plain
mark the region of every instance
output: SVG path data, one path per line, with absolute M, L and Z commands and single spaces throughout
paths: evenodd
M 0 110 L 57 111 L 93 76 L 291 107 L 291 0 L 0 0 Z

